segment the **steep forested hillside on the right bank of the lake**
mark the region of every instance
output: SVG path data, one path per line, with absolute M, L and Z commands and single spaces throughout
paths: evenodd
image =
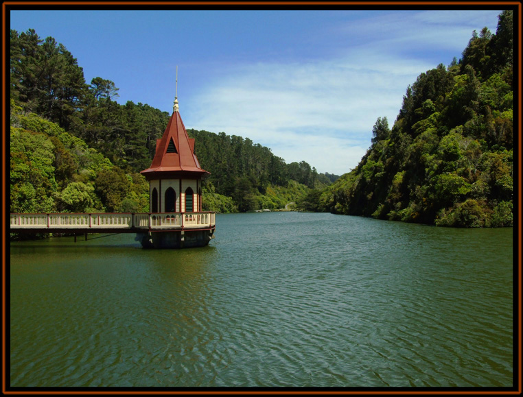
M 408 86 L 392 128 L 379 117 L 358 166 L 303 200 L 307 210 L 437 226 L 513 225 L 513 15 L 460 60 Z

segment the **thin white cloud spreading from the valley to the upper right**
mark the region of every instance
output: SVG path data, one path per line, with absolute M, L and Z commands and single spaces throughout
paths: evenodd
M 378 14 L 329 28 L 338 48 L 330 59 L 228 65 L 182 115 L 189 128 L 248 137 L 286 163 L 341 175 L 360 162 L 377 117 L 392 128 L 408 85 L 452 60 L 434 62 L 432 52 L 463 51 L 469 14 L 454 13 Z

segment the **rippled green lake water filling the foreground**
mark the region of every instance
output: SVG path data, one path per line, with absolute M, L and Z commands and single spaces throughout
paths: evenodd
M 512 229 L 217 217 L 205 248 L 12 243 L 12 386 L 511 387 Z

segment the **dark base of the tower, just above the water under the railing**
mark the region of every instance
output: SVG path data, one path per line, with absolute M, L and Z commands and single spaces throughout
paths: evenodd
M 211 230 L 183 230 L 179 232 L 139 232 L 135 241 L 143 248 L 196 248 L 205 247 L 214 238 Z

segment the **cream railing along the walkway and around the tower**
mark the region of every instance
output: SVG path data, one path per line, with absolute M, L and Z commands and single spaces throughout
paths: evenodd
M 213 228 L 216 213 L 11 214 L 10 230 L 185 230 Z

